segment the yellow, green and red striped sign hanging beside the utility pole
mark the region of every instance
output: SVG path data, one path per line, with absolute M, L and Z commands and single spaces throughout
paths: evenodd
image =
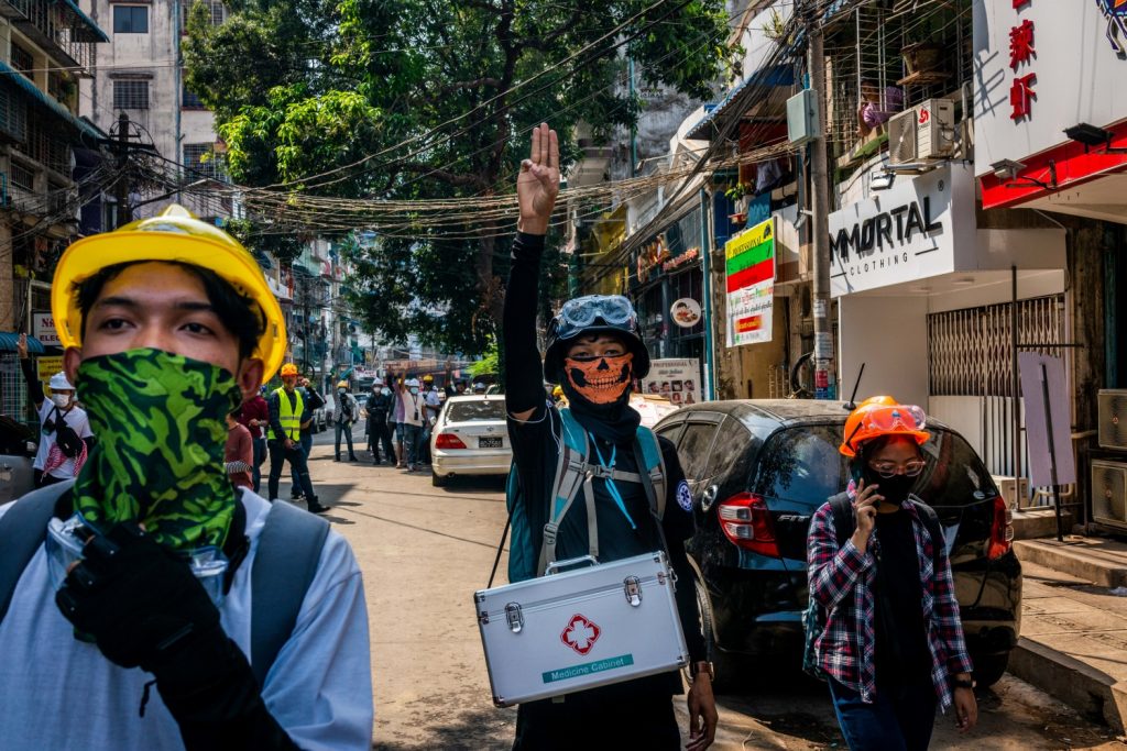
M 771 341 L 775 277 L 775 221 L 749 227 L 724 245 L 728 346 Z

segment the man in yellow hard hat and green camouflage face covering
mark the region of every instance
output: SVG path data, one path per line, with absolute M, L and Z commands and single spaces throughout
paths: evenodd
M 225 415 L 285 354 L 285 319 L 258 263 L 172 207 L 72 244 L 52 312 L 99 440 L 77 480 L 0 508 L 0 743 L 370 749 L 352 549 L 303 511 L 237 491 L 224 468 Z M 309 552 L 285 551 L 308 566 L 308 588 L 292 572 L 265 575 L 291 569 L 264 534 L 285 539 L 283 517 L 325 534 Z M 60 539 L 82 545 L 81 557 Z M 273 647 L 252 624 L 252 613 L 268 616 L 259 602 L 294 616 L 264 618 L 281 626 Z

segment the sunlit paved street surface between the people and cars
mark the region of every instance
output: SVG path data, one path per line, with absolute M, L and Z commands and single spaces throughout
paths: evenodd
M 489 578 L 505 522 L 500 481 L 436 489 L 427 475 L 338 464 L 331 438 L 318 436 L 310 467 L 322 502 L 335 507 L 328 518 L 364 570 L 375 746 L 507 748 L 516 713 L 489 700 L 471 600 Z M 823 685 L 766 668 L 749 683 L 746 695 L 721 697 L 715 748 L 843 748 Z M 960 737 L 940 717 L 932 748 L 1127 749 L 1107 727 L 1011 677 L 979 703 L 978 728 Z

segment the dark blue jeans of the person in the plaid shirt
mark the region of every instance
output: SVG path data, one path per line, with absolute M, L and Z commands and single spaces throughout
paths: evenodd
M 907 686 L 878 686 L 872 704 L 831 678 L 829 696 L 850 751 L 925 751 L 931 742 L 937 704 L 931 676 Z

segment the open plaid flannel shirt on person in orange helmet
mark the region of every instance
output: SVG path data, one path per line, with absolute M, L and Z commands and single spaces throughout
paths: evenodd
M 926 526 L 914 504 L 905 501 L 900 508 L 912 515 L 923 583 L 923 622 L 931 651 L 931 680 L 940 708 L 946 712 L 951 705 L 950 677 L 971 670 L 951 566 L 942 555 L 940 570 L 934 570 L 933 543 Z M 826 609 L 826 627 L 815 643 L 818 665 L 837 682 L 858 691 L 867 703 L 872 703 L 877 694 L 873 584 L 879 544 L 873 533 L 864 553 L 851 539 L 838 549 L 828 502 L 822 504 L 810 521 L 806 558 L 810 597 Z

